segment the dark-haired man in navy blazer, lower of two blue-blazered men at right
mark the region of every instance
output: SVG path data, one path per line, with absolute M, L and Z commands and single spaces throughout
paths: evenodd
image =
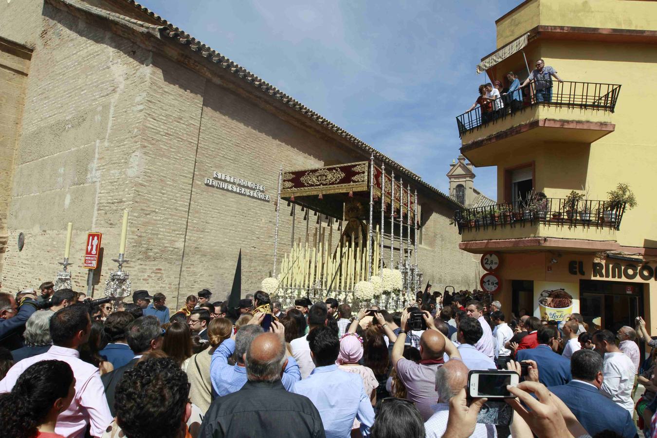
M 602 357 L 593 350 L 576 351 L 570 370 L 573 380 L 548 389 L 568 406 L 589 435 L 610 430 L 623 438 L 637 437 L 629 412 L 600 394 Z

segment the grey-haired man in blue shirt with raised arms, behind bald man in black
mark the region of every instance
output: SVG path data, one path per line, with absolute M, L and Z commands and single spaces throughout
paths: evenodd
M 240 327 L 235 335 L 235 340 L 228 338 L 217 347 L 212 353 L 210 361 L 210 382 L 212 382 L 212 393 L 215 396 L 223 397 L 242 389 L 246 383 L 246 364 L 244 355 L 256 336 L 263 333 L 260 322 L 262 322 L 264 313 L 256 314 L 246 326 Z M 279 338 L 285 341 L 285 329 L 283 324 L 274 321 L 271 324 L 273 332 Z M 228 364 L 228 358 L 235 353 L 237 363 L 233 366 Z M 285 389 L 290 391 L 292 385 L 297 380 L 301 380 L 301 372 L 296 364 L 294 357 L 288 356 L 287 365 L 281 377 L 281 383 Z

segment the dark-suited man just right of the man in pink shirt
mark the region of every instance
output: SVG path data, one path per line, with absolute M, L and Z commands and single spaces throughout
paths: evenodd
M 116 386 L 121 382 L 124 373 L 131 370 L 137 364 L 139 358 L 148 351 L 159 349 L 162 346 L 163 335 L 164 330 L 160 328 L 160 321 L 153 316 L 137 318 L 127 327 L 125 338 L 127 345 L 135 352 L 135 357 L 124 366 L 101 376 L 102 385 L 105 387 L 107 404 L 110 406 L 112 416 L 116 415 L 114 411 Z

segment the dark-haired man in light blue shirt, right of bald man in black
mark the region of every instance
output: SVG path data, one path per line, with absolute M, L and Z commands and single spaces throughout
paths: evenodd
M 305 395 L 319 410 L 327 438 L 349 437 L 353 419 L 361 422 L 360 432 L 369 437 L 374 424 L 374 409 L 363 387 L 363 379 L 355 373 L 338 369 L 335 364 L 340 340 L 328 327 L 318 327 L 308 334 L 315 369 L 306 380 L 294 383 L 292 392 Z

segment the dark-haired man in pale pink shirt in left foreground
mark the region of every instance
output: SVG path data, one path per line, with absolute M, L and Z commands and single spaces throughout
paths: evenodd
M 74 304 L 57 311 L 50 320 L 50 332 L 53 346 L 46 353 L 23 359 L 12 366 L 0 381 L 0 393 L 11 391 L 18 376 L 35 362 L 53 359 L 66 362 L 76 378 L 76 394 L 71 405 L 58 416 L 55 432 L 64 437 L 84 437 L 87 424 L 90 424 L 91 436 L 100 437 L 112 422 L 112 416 L 99 369 L 79 359 L 78 347 L 87 342 L 91 332 L 87 307 Z

